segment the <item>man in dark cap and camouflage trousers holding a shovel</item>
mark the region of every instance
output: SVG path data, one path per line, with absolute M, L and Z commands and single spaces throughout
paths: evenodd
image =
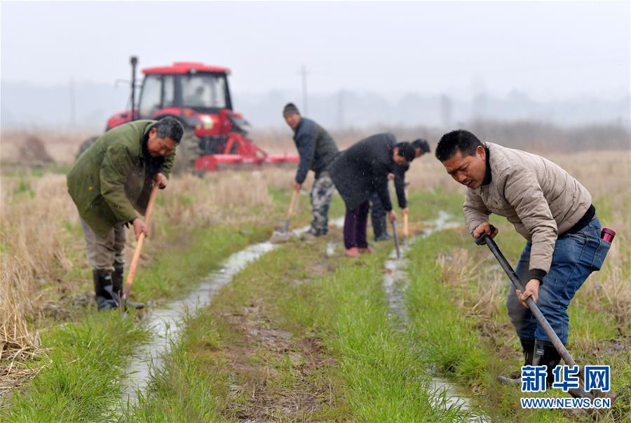
M 329 206 L 335 187 L 327 168 L 338 153 L 337 145 L 327 131 L 311 119 L 300 116 L 293 103 L 283 109 L 287 125 L 294 130 L 294 142 L 300 155 L 294 189 L 299 191 L 309 170 L 315 172 L 311 187 L 311 228 L 308 234 L 326 235 L 329 231 Z

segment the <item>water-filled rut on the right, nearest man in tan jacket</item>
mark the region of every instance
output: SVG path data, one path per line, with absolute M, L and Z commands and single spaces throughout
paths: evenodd
M 431 234 L 442 231 L 445 229 L 451 229 L 459 227 L 461 224 L 453 221 L 452 215 L 443 211 L 439 212 L 438 217 L 430 222 L 427 222 L 431 226 L 423 229 L 419 236 L 414 236 L 406 244 L 401 246 L 401 254 L 405 257 L 405 253 L 409 250 L 410 246 L 416 241 L 423 239 Z M 405 258 L 398 259 L 396 250 L 393 250 L 388 260 L 386 260 L 386 271 L 384 272 L 384 292 L 388 299 L 388 305 L 390 306 L 390 317 L 395 321 L 395 325 L 400 330 L 406 330 L 407 325 L 407 313 L 405 311 L 404 295 L 407 289 L 407 260 Z M 430 382 L 430 389 L 435 391 L 438 396 L 435 400 L 435 406 L 437 407 L 458 407 L 463 411 L 470 412 L 467 416 L 468 422 L 490 422 L 491 420 L 484 415 L 478 415 L 473 411 L 473 406 L 470 403 L 466 392 L 463 392 L 457 384 L 449 382 L 442 377 L 434 375 Z M 445 404 L 439 401 L 444 398 Z

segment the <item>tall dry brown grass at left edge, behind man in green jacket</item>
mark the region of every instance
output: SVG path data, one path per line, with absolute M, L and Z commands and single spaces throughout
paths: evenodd
M 6 358 L 37 347 L 25 318 L 39 313 L 42 286 L 72 267 L 67 255 L 72 236 L 65 227 L 77 216 L 63 175 L 1 182 L 0 356 Z

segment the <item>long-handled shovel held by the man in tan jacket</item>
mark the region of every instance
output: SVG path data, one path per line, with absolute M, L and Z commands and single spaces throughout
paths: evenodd
M 491 226 L 491 233 L 494 231 L 495 231 L 495 228 Z M 480 235 L 480 238 L 475 240 L 475 243 L 478 246 L 481 246 L 484 243 L 487 244 L 487 246 L 489 247 L 489 250 L 491 250 L 491 253 L 493 253 L 493 255 L 499 262 L 502 269 L 504 269 L 504 271 L 508 275 L 510 282 L 513 283 L 513 286 L 515 288 L 522 291 L 523 293 L 525 289 L 522 284 L 522 281 L 520 281 L 520 278 L 517 276 L 517 274 L 513 270 L 513 267 L 510 267 L 510 263 L 508 262 L 508 260 L 506 260 L 506 257 L 504 257 L 504 255 L 500 251 L 495 241 L 493 241 L 493 239 L 491 239 L 491 237 L 488 236 L 486 233 L 483 233 L 482 235 Z M 537 304 L 536 302 L 534 302 L 532 297 L 527 298 L 526 304 L 528 304 L 528 308 L 530 309 L 532 315 L 536 318 L 537 323 L 543 329 L 543 332 L 545 332 L 545 335 L 548 335 L 552 344 L 555 346 L 557 351 L 559 351 L 559 355 L 562 356 L 563 361 L 565 361 L 566 365 L 569 365 L 570 367 L 574 367 L 576 365 L 574 358 L 572 358 L 571 354 L 569 354 L 569 351 L 567 351 L 563 342 L 559 340 L 559 337 L 557 336 L 555 331 L 552 329 L 552 326 L 550 326 L 550 323 L 548 323 L 548 321 L 545 319 L 545 317 L 541 313 L 541 310 L 539 310 L 539 307 L 537 307 Z M 581 381 L 582 386 L 579 387 L 578 389 L 570 389 L 571 394 L 579 398 L 592 398 L 592 399 L 595 398 L 592 394 L 590 394 L 589 392 L 585 392 L 585 390 L 583 389 L 583 387 L 585 387 L 585 381 L 583 380 L 583 372 L 578 372 L 578 378 Z

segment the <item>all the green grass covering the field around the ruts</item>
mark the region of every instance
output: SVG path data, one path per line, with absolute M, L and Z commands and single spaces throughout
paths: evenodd
M 240 230 L 214 225 L 187 234 L 178 233 L 177 228 L 165 229 L 161 236 L 166 241 L 153 246 L 149 243 L 151 260 L 138 271 L 133 299 L 160 303 L 182 295 L 231 253 L 268 239 L 283 218 L 290 194 L 289 190 L 271 190 L 276 208 L 273 220 L 266 224 Z M 461 194 L 416 192 L 409 199 L 410 220 L 427 220 L 435 217 L 437 210 L 445 210 L 463 222 L 462 201 Z M 301 202 L 292 227 L 311 219 L 308 196 L 301 196 Z M 609 198 L 596 200 L 603 221 L 611 218 L 615 203 Z M 330 215 L 341 215 L 343 208 L 336 196 Z M 492 217 L 491 222 L 501 229 L 498 243 L 503 253 L 510 262 L 517 262 L 524 240 L 506 220 Z M 68 229 L 77 232 L 76 227 Z M 388 318 L 390 310 L 381 288 L 384 260 L 392 245 L 380 243 L 374 255 L 347 260 L 325 257 L 326 241 L 292 241 L 268 253 L 241 271 L 210 307 L 186 318 L 181 338 L 165 356 L 165 366 L 154 372 L 149 390 L 140 396 L 137 406 L 123 407 L 122 417 L 115 411 L 120 411 L 122 369 L 133 348 L 147 337 L 142 325 L 134 325 L 131 318 L 123 321 L 117 313 L 95 311 L 86 311 L 74 323 L 42 323 L 42 327 L 52 326 L 42 338 L 43 346 L 49 348 L 48 356 L 32 363 L 41 371 L 13 396 L 10 407 L 0 411 L 0 420 L 234 420 L 240 418 L 239 410 L 253 404 L 251 391 L 234 392 L 232 387 L 250 389 L 261 381 L 272 400 L 279 391 L 315 389 L 330 394 L 331 401 L 318 403 L 315 412 L 294 416 L 297 419 L 462 419 L 466 413 L 447 409 L 444 403 L 436 405 L 441 398 L 428 393 L 430 365 L 474 391 L 476 403 L 494 421 L 574 420 L 554 410 L 522 410 L 519 389 L 496 382 L 496 375 L 516 370 L 521 361 L 506 307 L 501 305 L 497 314 L 487 317 L 471 313 L 470 301 L 475 293 L 484 292 L 488 274 L 477 272 L 461 283 L 443 283 L 437 267 L 439 255 L 456 250 L 467 250 L 472 263 L 483 257 L 486 249 L 475 246 L 466 231 L 433 234 L 419 240 L 409 252 L 410 283 L 405 295 L 409 327 L 405 333 Z M 340 250 L 338 246 L 337 252 Z M 491 264 L 494 261 L 484 262 L 480 269 Z M 624 261 L 623 275 L 628 276 L 629 267 L 629 260 Z M 611 269 L 602 273 L 608 271 Z M 74 276 L 85 273 L 78 268 L 69 271 Z M 506 289 L 508 286 L 501 291 L 502 296 Z M 614 402 L 613 412 L 602 419 L 625 421 L 631 412 L 631 353 L 628 349 L 603 349 L 612 342 L 625 342 L 619 325 L 608 313 L 607 304 L 595 309 L 593 302 L 580 294 L 569 308 L 568 347 L 578 363 L 611 365 L 613 389 L 623 396 Z M 304 372 L 304 360 L 296 361 L 289 352 L 248 344 L 247 335 L 227 317 L 243 314 L 248 307 L 259 307 L 264 325 L 288 331 L 294 344 L 317 341 L 325 364 Z M 252 317 L 247 319 L 251 323 Z M 494 331 L 482 329 L 485 325 Z M 581 350 L 573 348 L 575 345 L 581 345 Z M 238 365 L 243 368 L 235 370 L 231 360 L 239 351 L 243 354 Z

